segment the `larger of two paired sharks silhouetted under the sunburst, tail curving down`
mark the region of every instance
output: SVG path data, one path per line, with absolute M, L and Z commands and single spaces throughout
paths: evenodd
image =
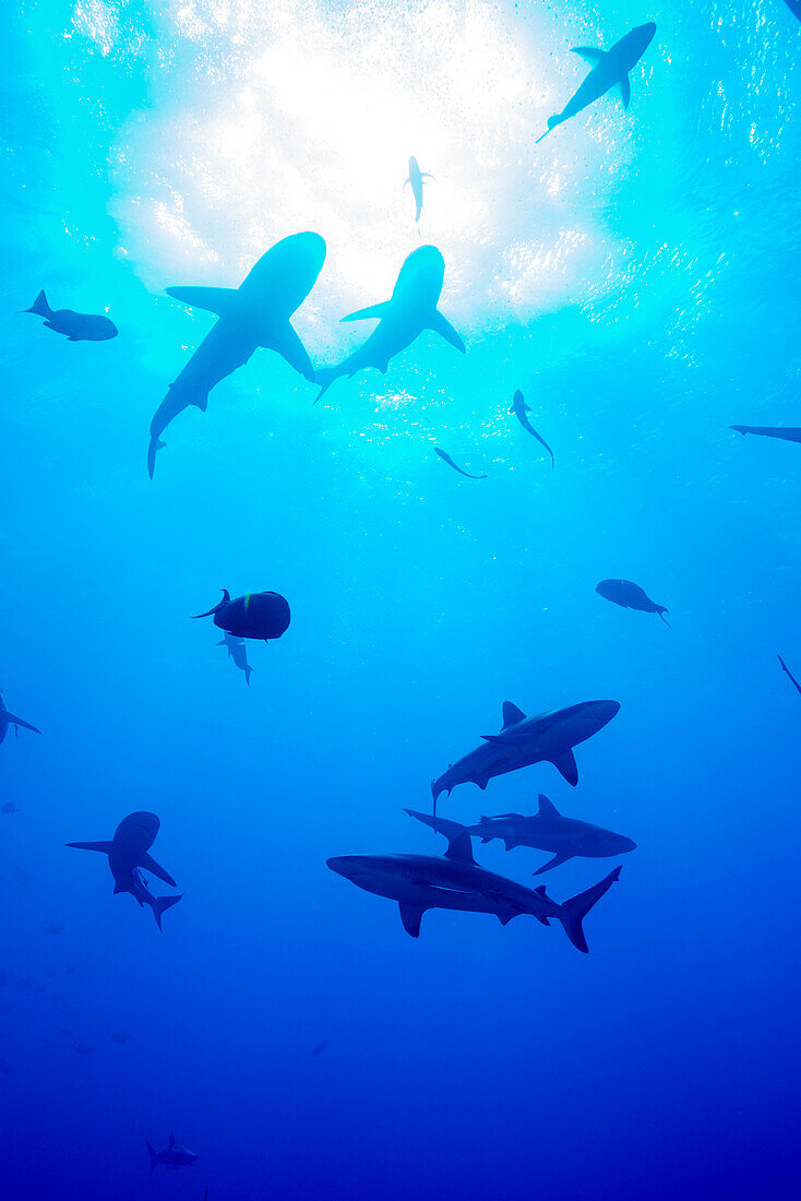
M 220 321 L 207 334 L 150 424 L 148 473 L 153 479 L 161 435 L 190 405 L 205 412 L 209 393 L 237 368 L 244 366 L 259 346 L 276 351 L 289 366 L 313 382 L 305 347 L 289 323 L 311 292 L 325 259 L 318 233 L 295 233 L 271 246 L 238 288 L 167 288 L 167 294 L 195 309 L 205 309 Z

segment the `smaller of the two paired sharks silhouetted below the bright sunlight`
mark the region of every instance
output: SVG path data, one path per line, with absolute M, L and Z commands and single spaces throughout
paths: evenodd
M 352 377 L 365 368 L 385 372 L 389 360 L 411 346 L 424 329 L 432 329 L 465 353 L 465 343 L 450 322 L 437 309 L 446 276 L 446 261 L 436 246 L 418 246 L 406 258 L 389 300 L 348 313 L 342 321 L 378 318 L 366 342 L 336 368 L 317 372 L 321 386 L 317 400 L 340 376 Z

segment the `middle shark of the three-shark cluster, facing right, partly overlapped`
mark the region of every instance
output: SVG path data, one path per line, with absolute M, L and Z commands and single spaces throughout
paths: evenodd
M 460 833 L 468 833 L 479 837 L 483 843 L 502 838 L 507 850 L 512 850 L 513 847 L 533 847 L 536 850 L 555 852 L 554 858 L 538 867 L 534 876 L 550 872 L 551 868 L 567 864 L 568 859 L 608 859 L 610 855 L 623 855 L 636 849 L 636 843 L 621 833 L 612 833 L 611 830 L 591 825 L 590 821 L 562 817 L 556 806 L 542 793 L 539 809 L 533 817 L 502 813 L 494 818 L 483 817 L 472 826 L 464 826 L 459 821 L 448 821 L 444 818 L 437 818 L 435 821 L 429 813 L 417 813 L 414 809 L 405 812 L 449 839 L 459 837 Z

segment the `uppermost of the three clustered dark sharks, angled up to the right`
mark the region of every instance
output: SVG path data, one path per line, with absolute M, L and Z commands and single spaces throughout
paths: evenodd
M 483 734 L 483 746 L 452 764 L 438 779 L 431 782 L 435 815 L 440 794 L 447 791 L 450 795 L 456 784 L 472 782 L 484 789 L 495 776 L 534 763 L 552 763 L 568 784 L 578 784 L 579 769 L 573 747 L 603 729 L 618 710 L 616 700 L 585 700 L 568 709 L 526 717 L 516 705 L 504 700 L 501 733 Z

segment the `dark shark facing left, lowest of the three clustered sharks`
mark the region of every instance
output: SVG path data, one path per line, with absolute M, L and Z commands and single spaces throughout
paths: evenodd
M 558 904 L 548 896 L 544 885 L 528 889 L 479 867 L 473 859 L 470 836 L 461 831 L 450 839 L 442 859 L 434 855 L 341 855 L 329 859 L 328 866 L 366 892 L 396 901 L 404 928 L 412 938 L 419 937 L 420 919 L 426 909 L 491 913 L 504 926 L 527 913 L 543 926 L 548 926 L 551 918 L 561 921 L 573 945 L 585 952 L 582 919 L 620 876 L 620 867 L 616 867 L 586 892 Z

